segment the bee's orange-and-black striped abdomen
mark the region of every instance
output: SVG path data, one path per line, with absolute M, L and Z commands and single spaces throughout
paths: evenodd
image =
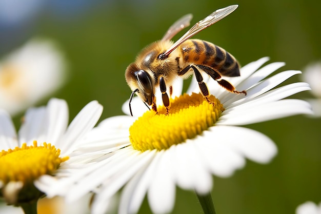
M 238 62 L 221 47 L 203 40 L 187 40 L 179 48 L 184 62 L 207 65 L 224 76 L 239 76 Z

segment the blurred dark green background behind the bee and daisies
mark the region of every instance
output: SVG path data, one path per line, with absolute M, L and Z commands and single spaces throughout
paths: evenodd
M 34 36 L 56 41 L 68 61 L 69 78 L 52 96 L 68 102 L 70 118 L 92 100 L 104 106 L 101 120 L 123 114 L 121 106 L 131 93 L 124 78 L 126 67 L 142 48 L 162 38 L 168 27 L 187 13 L 193 13 L 194 24 L 218 8 L 238 4 L 235 12 L 194 38 L 225 48 L 242 65 L 270 56 L 270 62 L 286 62 L 279 71 L 301 70 L 321 60 L 320 1 L 79 1 L 81 8 L 72 2 L 75 5 L 46 7 L 30 26 L 24 26 L 25 34 L 15 35 L 15 42 L 1 52 L 5 55 Z M 0 44 L 3 42 L 8 43 Z M 296 81 L 299 76 L 286 83 Z M 293 97 L 311 96 L 301 92 Z M 21 116 L 14 118 L 17 127 Z M 295 213 L 299 204 L 309 200 L 319 203 L 320 125 L 321 119 L 298 115 L 247 126 L 268 135 L 278 154 L 270 164 L 247 161 L 231 178 L 215 177 L 212 196 L 216 212 L 284 214 Z M 150 213 L 146 200 L 139 213 Z M 202 212 L 193 192 L 178 189 L 173 213 Z

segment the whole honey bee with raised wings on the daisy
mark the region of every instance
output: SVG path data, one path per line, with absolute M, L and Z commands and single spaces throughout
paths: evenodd
M 209 99 L 207 85 L 203 82 L 202 73 L 208 74 L 226 90 L 246 95 L 246 91 L 237 91 L 231 83 L 222 79 L 222 76 L 240 75 L 240 66 L 234 56 L 210 42 L 189 39 L 199 31 L 222 20 L 237 7 L 238 5 L 231 5 L 214 11 L 173 43 L 171 38 L 190 24 L 192 15 L 185 15 L 168 29 L 162 40 L 150 44 L 138 54 L 136 61 L 130 64 L 125 72 L 127 84 L 132 90 L 129 99 L 131 115 L 133 114 L 130 103 L 134 94 L 139 96 L 147 107 L 151 106 L 157 113 L 156 87 L 159 87 L 162 92 L 163 104 L 166 107 L 166 114 L 168 114 L 170 102 L 167 88 L 169 88 L 171 95 L 175 78 L 177 76 L 186 78 L 193 73 L 200 92 L 209 103 L 212 102 Z

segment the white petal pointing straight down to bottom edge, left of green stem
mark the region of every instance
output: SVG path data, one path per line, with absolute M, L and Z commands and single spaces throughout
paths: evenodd
M 148 202 L 153 213 L 163 214 L 172 211 L 175 202 L 175 183 L 171 174 L 171 160 L 168 151 L 157 152 L 161 155 L 148 189 Z

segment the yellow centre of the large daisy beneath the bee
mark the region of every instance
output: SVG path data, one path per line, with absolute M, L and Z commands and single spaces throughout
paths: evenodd
M 223 105 L 211 95 L 212 104 L 201 94 L 184 94 L 171 100 L 169 115 L 164 106 L 158 113 L 147 111 L 130 127 L 130 141 L 140 151 L 168 149 L 202 134 L 213 126 L 224 111 Z

